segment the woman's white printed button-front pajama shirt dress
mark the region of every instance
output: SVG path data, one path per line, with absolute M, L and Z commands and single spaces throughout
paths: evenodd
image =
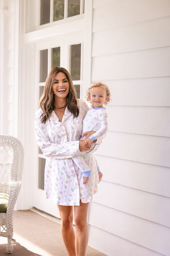
M 75 118 L 66 107 L 61 122 L 54 111 L 45 124 L 40 121 L 41 108 L 35 115 L 36 141 L 46 156 L 46 197 L 63 206 L 78 206 L 80 199 L 83 203 L 92 201 L 98 190 L 98 171 L 93 153 L 83 155 L 83 160 L 92 170 L 85 185 L 81 169 L 72 161 L 73 157 L 81 154 L 82 122 L 89 109 L 83 100 L 78 100 L 78 107 L 80 113 Z

